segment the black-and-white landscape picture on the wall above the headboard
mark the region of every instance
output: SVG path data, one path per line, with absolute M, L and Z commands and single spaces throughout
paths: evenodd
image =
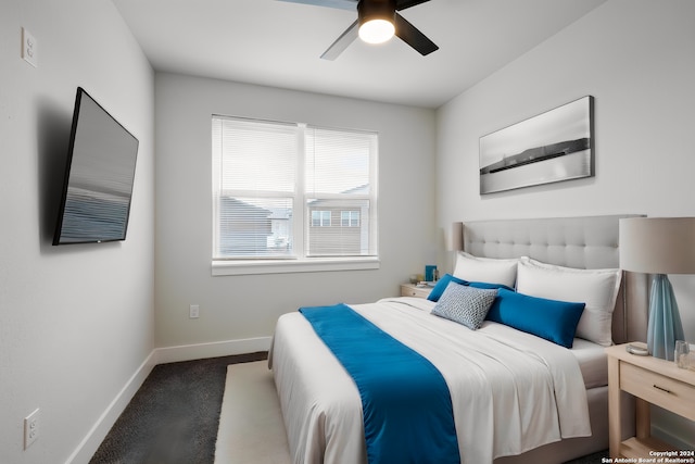
M 594 175 L 594 98 L 480 138 L 480 193 Z

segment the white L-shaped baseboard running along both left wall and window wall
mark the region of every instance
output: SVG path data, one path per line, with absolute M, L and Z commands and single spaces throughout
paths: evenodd
M 85 436 L 73 454 L 65 461 L 65 464 L 81 464 L 91 460 L 91 456 L 97 452 L 97 449 L 99 449 L 99 446 L 109 434 L 109 430 L 111 430 L 111 427 L 116 423 L 118 416 L 121 416 L 155 365 L 268 351 L 270 349 L 270 340 L 271 337 L 258 337 L 243 340 L 217 341 L 213 343 L 155 348 L 97 419 L 97 423 L 87 436 Z

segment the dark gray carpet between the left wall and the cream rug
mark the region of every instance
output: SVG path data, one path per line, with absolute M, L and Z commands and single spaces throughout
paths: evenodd
M 265 359 L 260 352 L 155 366 L 90 464 L 212 464 L 227 366 Z

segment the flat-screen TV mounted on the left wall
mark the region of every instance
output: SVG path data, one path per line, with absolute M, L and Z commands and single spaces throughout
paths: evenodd
M 138 139 L 77 88 L 53 244 L 126 239 Z

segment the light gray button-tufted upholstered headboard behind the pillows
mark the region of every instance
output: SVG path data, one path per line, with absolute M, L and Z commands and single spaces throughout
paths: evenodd
M 619 267 L 618 223 L 631 215 L 464 223 L 464 250 L 476 256 L 530 256 L 578 268 Z M 612 316 L 616 343 L 646 341 L 647 276 L 623 272 Z

